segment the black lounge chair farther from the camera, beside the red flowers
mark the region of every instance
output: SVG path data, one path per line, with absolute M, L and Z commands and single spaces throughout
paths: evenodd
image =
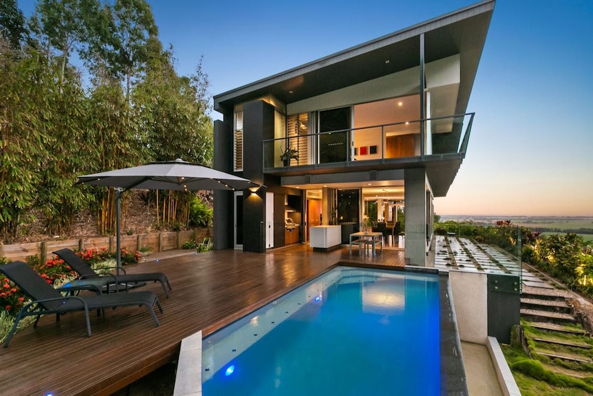
M 82 258 L 76 256 L 76 253 L 72 251 L 72 249 L 60 249 L 53 252 L 59 258 L 64 260 L 68 263 L 74 271 L 78 272 L 80 275 L 80 279 L 93 279 L 102 276 L 99 273 L 96 273 L 89 264 Z M 160 282 L 162 285 L 162 289 L 164 291 L 164 295 L 169 298 L 169 292 L 166 290 L 166 286 L 169 286 L 169 290 L 171 290 L 171 284 L 169 284 L 169 279 L 166 275 L 162 272 L 147 272 L 147 273 L 125 273 L 125 269 L 120 267 L 120 271 L 123 271 L 121 275 L 116 274 L 109 274 L 111 278 L 114 279 L 116 283 L 116 288 L 118 289 L 118 285 L 125 284 L 125 288 L 127 290 L 128 286 L 137 287 L 142 286 L 142 282 Z

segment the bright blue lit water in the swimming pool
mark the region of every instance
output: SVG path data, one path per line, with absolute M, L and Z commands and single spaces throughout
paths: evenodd
M 438 275 L 338 267 L 204 339 L 214 395 L 439 395 Z

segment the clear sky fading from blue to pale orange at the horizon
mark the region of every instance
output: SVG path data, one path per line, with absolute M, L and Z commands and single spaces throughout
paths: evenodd
M 149 0 L 178 74 L 220 94 L 473 0 Z M 30 15 L 34 0 L 19 6 Z M 440 215 L 593 216 L 593 0 L 497 0 Z M 214 112 L 213 118 L 222 118 Z

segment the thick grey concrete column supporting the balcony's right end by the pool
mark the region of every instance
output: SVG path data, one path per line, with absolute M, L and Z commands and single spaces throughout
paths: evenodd
M 427 194 L 426 171 L 405 169 L 405 254 L 411 265 L 427 264 Z

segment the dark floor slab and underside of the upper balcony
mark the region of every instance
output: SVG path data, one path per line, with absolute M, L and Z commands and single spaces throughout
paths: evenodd
M 308 185 L 341 185 L 361 182 L 389 182 L 404 180 L 405 169 L 424 168 L 433 191 L 433 196 L 446 196 L 463 160 L 462 154 L 442 154 L 410 158 L 391 158 L 385 160 L 356 161 L 343 164 L 305 165 L 294 170 L 266 171 L 266 174 L 280 176 L 280 184 L 285 187 Z M 345 171 L 344 169 L 347 169 Z

